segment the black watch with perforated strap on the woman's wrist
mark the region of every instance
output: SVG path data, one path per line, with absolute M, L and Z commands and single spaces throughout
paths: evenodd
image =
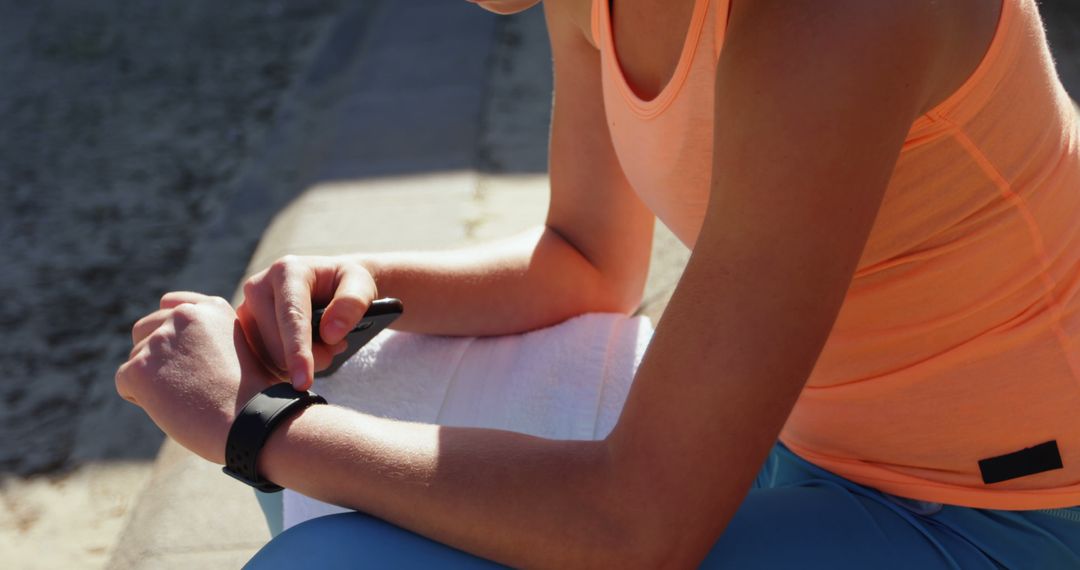
M 232 421 L 221 471 L 262 492 L 282 490 L 258 474 L 259 451 L 279 423 L 312 404 L 326 404 L 326 398 L 314 392 L 298 392 L 284 382 L 255 394 Z

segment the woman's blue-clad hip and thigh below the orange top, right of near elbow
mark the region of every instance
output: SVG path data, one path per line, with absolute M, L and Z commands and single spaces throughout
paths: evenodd
M 703 568 L 1080 568 L 1080 506 L 999 511 L 904 499 L 778 443 Z

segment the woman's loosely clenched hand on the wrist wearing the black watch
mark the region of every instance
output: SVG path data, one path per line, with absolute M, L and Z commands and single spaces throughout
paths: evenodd
M 244 340 L 229 303 L 170 293 L 132 329 L 135 347 L 117 370 L 117 392 L 184 447 L 225 463 L 240 407 L 276 380 Z

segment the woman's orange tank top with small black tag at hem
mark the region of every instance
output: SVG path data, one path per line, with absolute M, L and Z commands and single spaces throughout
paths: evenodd
M 688 247 L 708 201 L 728 10 L 697 0 L 674 76 L 642 100 L 608 0 L 593 2 L 620 164 Z M 983 62 L 912 125 L 786 446 L 901 497 L 1080 505 L 1078 145 L 1035 1 L 1003 0 Z

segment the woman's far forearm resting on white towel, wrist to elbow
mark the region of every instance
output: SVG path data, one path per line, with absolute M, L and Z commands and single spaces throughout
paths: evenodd
M 546 226 L 462 249 L 355 257 L 380 296 L 404 301 L 405 314 L 393 326 L 400 330 L 508 335 L 636 307 L 633 296 Z

